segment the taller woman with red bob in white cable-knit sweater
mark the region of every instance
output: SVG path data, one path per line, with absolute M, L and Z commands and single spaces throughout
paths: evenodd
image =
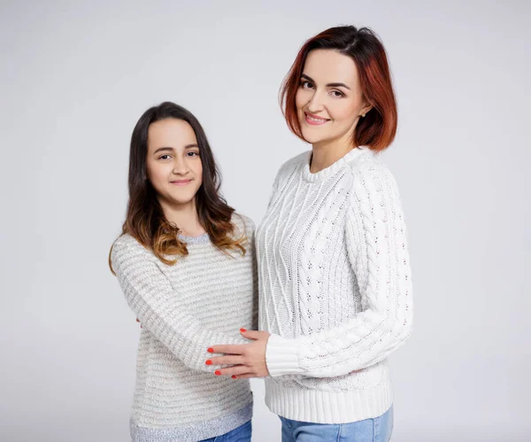
M 333 27 L 299 51 L 282 89 L 312 151 L 281 167 L 257 231 L 260 329 L 217 345 L 222 375 L 266 377 L 282 441 L 387 442 L 387 358 L 412 331 L 412 277 L 396 182 L 378 155 L 396 133 L 386 52 Z

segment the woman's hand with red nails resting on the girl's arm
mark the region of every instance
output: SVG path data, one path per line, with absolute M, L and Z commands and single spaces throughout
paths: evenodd
M 219 368 L 216 376 L 232 376 L 233 379 L 250 377 L 266 377 L 269 371 L 266 365 L 266 345 L 269 339 L 267 331 L 247 331 L 241 329 L 242 337 L 253 342 L 242 345 L 214 345 L 209 353 L 225 353 L 206 361 L 206 365 L 232 365 L 234 367 Z

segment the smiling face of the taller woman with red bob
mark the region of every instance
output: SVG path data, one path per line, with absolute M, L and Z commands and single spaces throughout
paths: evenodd
M 354 60 L 336 50 L 312 50 L 296 92 L 296 111 L 304 139 L 327 144 L 351 140 L 364 101 Z

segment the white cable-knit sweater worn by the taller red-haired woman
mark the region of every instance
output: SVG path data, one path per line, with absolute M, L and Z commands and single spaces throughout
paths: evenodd
M 290 159 L 257 231 L 266 403 L 297 421 L 350 423 L 392 404 L 386 358 L 412 331 L 396 182 L 361 147 L 317 174 Z

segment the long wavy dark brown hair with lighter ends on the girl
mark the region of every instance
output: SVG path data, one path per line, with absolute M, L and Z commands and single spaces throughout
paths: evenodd
M 201 225 L 208 233 L 212 244 L 219 250 L 224 252 L 235 250 L 245 254 L 244 245 L 247 237 L 244 232 L 235 237 L 235 225 L 231 221 L 235 209 L 227 205 L 227 201 L 219 194 L 221 175 L 204 129 L 191 112 L 171 102 L 148 109 L 133 130 L 129 151 L 129 200 L 122 235 L 129 234 L 135 237 L 140 244 L 150 249 L 159 260 L 168 265 L 175 264 L 178 256 L 189 253 L 186 244 L 177 237 L 180 229 L 165 218 L 162 206 L 158 202 L 157 192 L 147 175 L 148 129 L 151 123 L 169 118 L 186 121 L 196 134 L 203 165 L 203 183 L 195 197 Z M 168 255 L 176 257 L 171 259 Z M 109 253 L 109 266 L 114 273 L 111 253 Z

